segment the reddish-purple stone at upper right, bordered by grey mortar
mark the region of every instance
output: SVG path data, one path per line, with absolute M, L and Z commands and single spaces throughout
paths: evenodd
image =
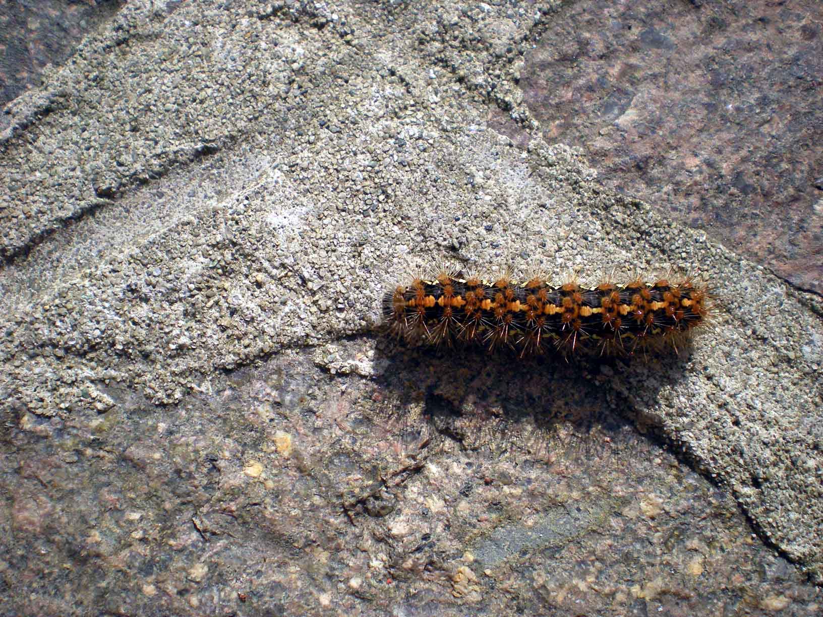
M 606 186 L 823 292 L 821 2 L 570 2 L 521 76 Z

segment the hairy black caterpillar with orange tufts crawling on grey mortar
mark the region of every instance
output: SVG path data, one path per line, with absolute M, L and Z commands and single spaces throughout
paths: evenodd
M 388 291 L 383 308 L 390 332 L 410 345 L 509 347 L 520 357 L 551 350 L 631 355 L 650 346 L 677 351 L 705 324 L 708 300 L 706 287 L 690 278 L 588 289 L 577 281 L 485 281 L 441 271 Z

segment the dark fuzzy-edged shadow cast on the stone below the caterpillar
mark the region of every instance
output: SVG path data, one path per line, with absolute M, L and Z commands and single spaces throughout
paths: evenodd
M 388 366 L 377 378 L 385 420 L 420 416 L 459 448 L 551 462 L 619 455 L 645 439 L 655 419 L 626 407 L 622 393 L 631 388 L 636 398 L 654 400 L 683 378 L 689 351 L 521 359 L 509 350 L 407 347 L 380 338 L 375 361 Z

